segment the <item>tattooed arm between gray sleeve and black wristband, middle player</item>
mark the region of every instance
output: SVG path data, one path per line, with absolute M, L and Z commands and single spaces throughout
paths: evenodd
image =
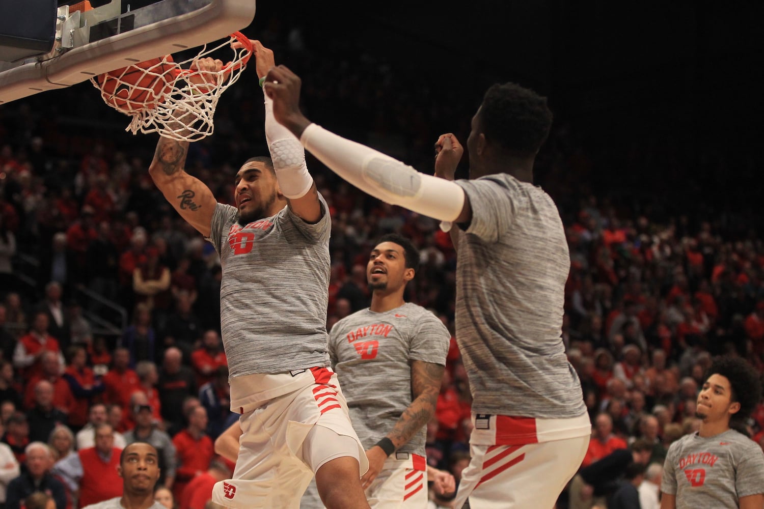
M 411 365 L 411 389 L 413 401 L 400 416 L 387 437 L 396 449 L 411 440 L 435 415 L 440 381 L 445 368 L 432 362 L 413 361 Z

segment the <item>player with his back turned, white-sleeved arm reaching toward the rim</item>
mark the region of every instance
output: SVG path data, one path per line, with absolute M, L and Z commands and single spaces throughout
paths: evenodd
M 575 474 L 591 424 L 565 356 L 562 316 L 570 268 L 559 212 L 533 185 L 549 134 L 545 98 L 494 85 L 472 119 L 471 180 L 454 179 L 462 148 L 436 144 L 437 177 L 312 124 L 299 111 L 299 78 L 268 72 L 274 116 L 339 176 L 377 198 L 452 221 L 457 241 L 456 340 L 474 398 L 471 462 L 455 507 L 552 507 Z

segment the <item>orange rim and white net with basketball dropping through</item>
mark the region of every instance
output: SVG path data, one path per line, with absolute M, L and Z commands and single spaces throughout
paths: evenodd
M 231 44 L 241 43 L 234 49 Z M 197 60 L 229 47 L 233 58 L 218 71 L 191 69 Z M 105 103 L 132 117 L 125 130 L 159 133 L 176 140 L 196 141 L 212 134 L 212 115 L 220 95 L 241 76 L 252 55 L 249 39 L 240 32 L 219 46 L 203 46 L 193 58 L 174 62 L 171 55 L 136 63 L 90 79 Z

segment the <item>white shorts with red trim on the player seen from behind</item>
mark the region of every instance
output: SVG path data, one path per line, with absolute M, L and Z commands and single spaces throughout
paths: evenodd
M 589 446 L 588 415 L 533 419 L 473 414 L 471 460 L 454 507 L 551 509 Z M 516 443 L 512 443 L 516 441 Z

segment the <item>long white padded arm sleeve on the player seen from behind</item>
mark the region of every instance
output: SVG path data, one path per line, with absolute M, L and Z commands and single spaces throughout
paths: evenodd
M 454 182 L 417 172 L 319 125 L 306 127 L 300 141 L 338 176 L 391 205 L 441 221 L 454 221 L 465 205 L 465 192 Z

